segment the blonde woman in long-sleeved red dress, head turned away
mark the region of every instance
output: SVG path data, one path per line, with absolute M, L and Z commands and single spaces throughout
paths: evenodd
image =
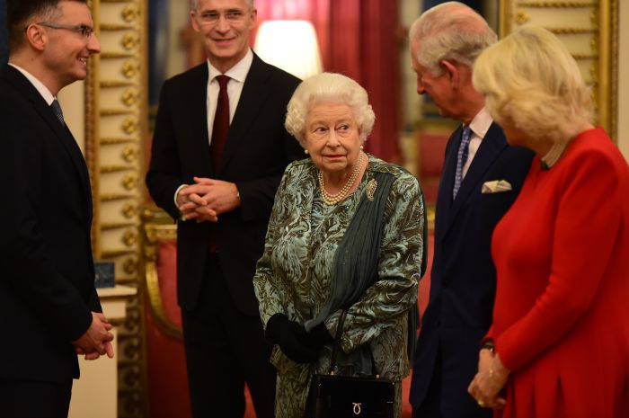
M 551 32 L 486 49 L 474 86 L 537 156 L 493 233 L 493 324 L 468 390 L 496 417 L 629 417 L 629 166 Z

